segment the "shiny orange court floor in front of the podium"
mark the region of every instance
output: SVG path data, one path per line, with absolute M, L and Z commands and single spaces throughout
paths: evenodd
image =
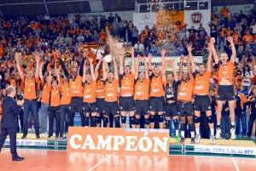
M 0 168 L 3 171 L 153 171 L 189 170 L 254 171 L 255 158 L 209 157 L 209 156 L 146 156 L 125 154 L 102 154 L 36 149 L 18 149 L 22 162 L 12 162 L 8 148 L 0 153 Z

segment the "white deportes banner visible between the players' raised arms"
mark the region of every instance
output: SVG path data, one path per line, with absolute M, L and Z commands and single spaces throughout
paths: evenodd
M 172 60 L 175 65 L 176 71 L 178 71 L 179 63 L 180 63 L 179 57 L 169 56 L 169 57 L 166 57 L 165 59 Z M 195 60 L 195 68 L 198 69 L 199 64 L 202 63 L 202 61 L 203 61 L 203 57 L 202 56 L 194 56 L 194 60 Z M 148 59 L 147 59 L 147 61 L 148 61 Z M 137 58 L 135 58 L 135 62 L 137 62 Z M 151 64 L 152 64 L 152 67 L 159 66 L 160 70 L 161 70 L 162 58 L 161 57 L 153 57 Z M 125 58 L 125 66 L 131 66 L 131 58 Z M 143 61 L 141 61 L 141 63 L 139 64 L 139 71 L 145 71 L 145 66 L 144 66 Z M 168 66 L 166 68 L 166 71 L 172 71 L 171 66 Z M 185 61 L 183 63 L 183 71 L 188 71 L 188 65 Z

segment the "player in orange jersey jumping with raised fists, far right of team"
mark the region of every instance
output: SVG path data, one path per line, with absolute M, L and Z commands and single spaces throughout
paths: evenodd
M 216 53 L 216 50 L 213 46 L 215 39 L 211 39 L 212 45 L 212 55 L 215 60 L 215 65 L 218 65 L 218 108 L 217 108 L 217 132 L 216 139 L 220 138 L 221 129 L 220 129 L 220 118 L 222 106 L 225 100 L 229 101 L 230 108 L 230 120 L 231 120 L 231 140 L 236 139 L 235 134 L 235 93 L 233 88 L 233 73 L 234 65 L 236 60 L 236 48 L 233 41 L 233 37 L 228 37 L 227 40 L 230 42 L 232 55 L 229 60 L 228 54 L 221 54 L 220 59 Z M 213 42 L 213 43 L 212 43 Z M 229 60 L 229 61 L 228 61 Z

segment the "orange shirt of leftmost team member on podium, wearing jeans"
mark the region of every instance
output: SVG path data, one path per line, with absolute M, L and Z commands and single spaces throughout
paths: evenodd
M 28 80 L 27 77 L 23 77 L 21 79 L 21 83 L 25 83 L 24 99 L 25 100 L 35 100 L 35 99 L 37 99 L 36 83 L 39 83 L 38 77 L 34 77 L 34 78 L 32 78 L 32 80 Z

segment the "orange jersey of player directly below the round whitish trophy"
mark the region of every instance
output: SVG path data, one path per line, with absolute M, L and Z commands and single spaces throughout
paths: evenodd
M 105 82 L 105 101 L 113 102 L 118 100 L 119 81 L 113 79 L 112 83 Z

